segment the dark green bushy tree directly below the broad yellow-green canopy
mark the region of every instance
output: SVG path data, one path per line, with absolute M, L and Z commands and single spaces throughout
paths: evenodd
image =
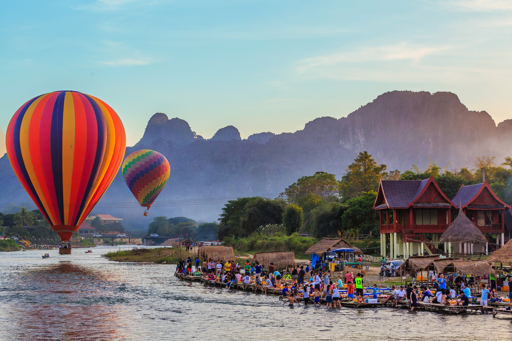
M 311 233 L 316 238 L 342 236 L 345 231 L 342 221 L 345 204 L 329 202 L 311 211 Z

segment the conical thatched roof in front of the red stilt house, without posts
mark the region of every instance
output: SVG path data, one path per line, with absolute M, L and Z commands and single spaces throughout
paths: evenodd
M 478 230 L 477 226 L 466 217 L 462 209 L 459 209 L 459 215 L 448 226 L 446 231 L 439 239 L 441 243 L 483 243 L 487 238 Z

